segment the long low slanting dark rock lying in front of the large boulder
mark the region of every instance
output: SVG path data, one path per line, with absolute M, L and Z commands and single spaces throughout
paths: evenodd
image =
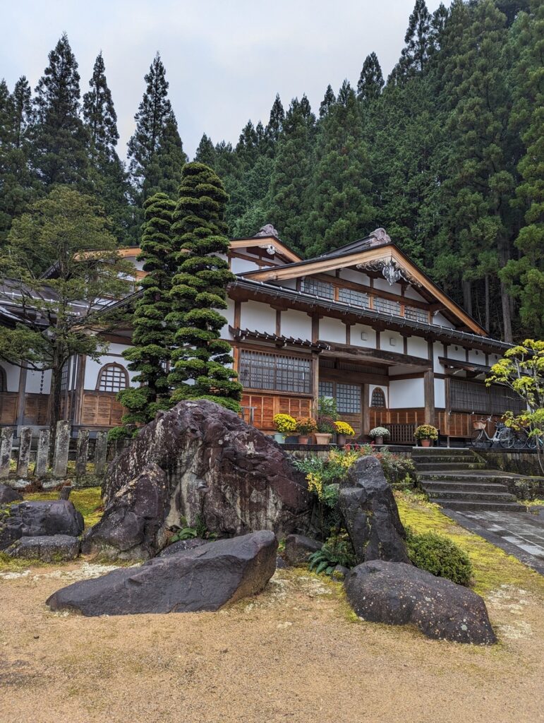
M 217 610 L 264 588 L 275 572 L 276 550 L 276 536 L 267 530 L 209 542 L 74 583 L 47 604 L 83 615 Z

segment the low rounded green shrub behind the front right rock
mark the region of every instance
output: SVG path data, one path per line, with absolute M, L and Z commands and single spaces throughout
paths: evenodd
M 469 585 L 472 562 L 467 553 L 453 540 L 436 532 L 415 534 L 406 529 L 406 547 L 413 564 L 421 570 L 458 585 Z

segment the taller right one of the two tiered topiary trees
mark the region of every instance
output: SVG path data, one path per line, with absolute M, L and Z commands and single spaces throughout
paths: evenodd
M 178 273 L 166 320 L 177 331 L 168 382 L 174 403 L 204 398 L 238 411 L 242 387 L 229 368 L 230 344 L 220 338 L 227 320 L 217 310 L 227 308 L 227 285 L 234 278 L 222 255 L 228 252 L 226 202 L 215 171 L 203 163 L 184 166 L 172 226 Z

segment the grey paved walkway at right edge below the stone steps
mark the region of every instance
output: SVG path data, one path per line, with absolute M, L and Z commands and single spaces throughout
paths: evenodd
M 533 513 L 442 512 L 544 575 L 544 508 Z

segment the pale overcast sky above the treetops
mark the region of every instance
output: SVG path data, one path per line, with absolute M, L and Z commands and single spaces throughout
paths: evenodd
M 0 0 L 0 77 L 34 88 L 48 52 L 68 33 L 82 93 L 103 51 L 121 134 L 134 130 L 144 74 L 160 51 L 186 153 L 202 133 L 236 144 L 251 118 L 266 124 L 276 93 L 287 109 L 308 95 L 319 109 L 330 83 L 356 85 L 374 51 L 384 77 L 399 58 L 415 0 Z M 427 0 L 430 12 L 439 0 Z

